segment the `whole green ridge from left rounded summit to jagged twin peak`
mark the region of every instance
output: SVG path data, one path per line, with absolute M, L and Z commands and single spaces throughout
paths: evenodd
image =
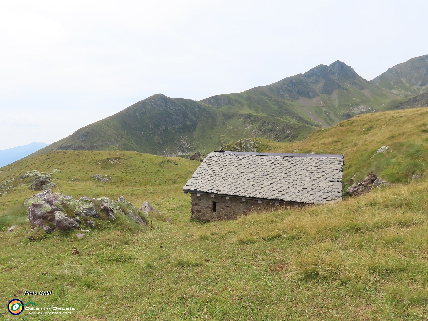
M 212 151 L 244 137 L 300 140 L 316 128 L 380 110 L 394 98 L 336 61 L 268 86 L 202 101 L 156 94 L 35 155 L 72 149 L 176 156 Z

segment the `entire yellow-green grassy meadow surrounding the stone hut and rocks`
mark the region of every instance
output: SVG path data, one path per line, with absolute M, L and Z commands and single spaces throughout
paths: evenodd
M 401 161 L 420 162 L 417 171 L 423 174 L 427 112 L 363 115 L 305 141 L 261 140 L 262 149 L 343 153 L 346 179 L 357 171 L 366 175 L 371 166 L 401 175 Z M 392 119 L 402 124 L 393 131 L 387 129 Z M 367 127 L 360 128 L 363 123 Z M 370 161 L 381 145 L 393 152 Z M 9 184 L 16 187 L 0 196 L 0 319 L 428 319 L 425 178 L 412 181 L 407 172 L 390 187 L 336 204 L 279 207 L 202 224 L 190 220 L 190 197 L 181 190 L 199 164 L 137 152 L 55 151 L 1 168 L 0 184 L 14 179 Z M 18 177 L 54 168 L 63 171 L 52 175 L 55 191 L 75 199 L 123 195 L 137 207 L 147 199 L 162 214 L 151 214 L 147 227 L 94 219 L 95 229 L 81 239 L 74 231 L 30 241 L 22 203 L 34 192 L 30 178 Z M 92 180 L 98 173 L 113 181 Z M 18 228 L 7 233 L 11 225 Z M 72 254 L 74 249 L 80 255 Z M 24 296 L 26 290 L 52 295 Z M 24 311 L 16 317 L 5 307 L 13 298 L 76 311 L 64 316 Z

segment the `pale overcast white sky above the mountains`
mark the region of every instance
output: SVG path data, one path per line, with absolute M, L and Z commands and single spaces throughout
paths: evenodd
M 0 149 L 156 93 L 241 92 L 335 60 L 367 80 L 428 54 L 426 1 L 2 1 Z

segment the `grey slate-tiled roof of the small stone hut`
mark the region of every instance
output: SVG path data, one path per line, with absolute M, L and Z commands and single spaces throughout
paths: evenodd
M 327 203 L 342 198 L 342 175 L 342 155 L 211 152 L 183 190 Z

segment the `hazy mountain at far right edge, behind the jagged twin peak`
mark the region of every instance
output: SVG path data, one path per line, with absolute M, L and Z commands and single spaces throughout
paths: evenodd
M 399 63 L 371 82 L 401 97 L 428 92 L 428 55 Z

